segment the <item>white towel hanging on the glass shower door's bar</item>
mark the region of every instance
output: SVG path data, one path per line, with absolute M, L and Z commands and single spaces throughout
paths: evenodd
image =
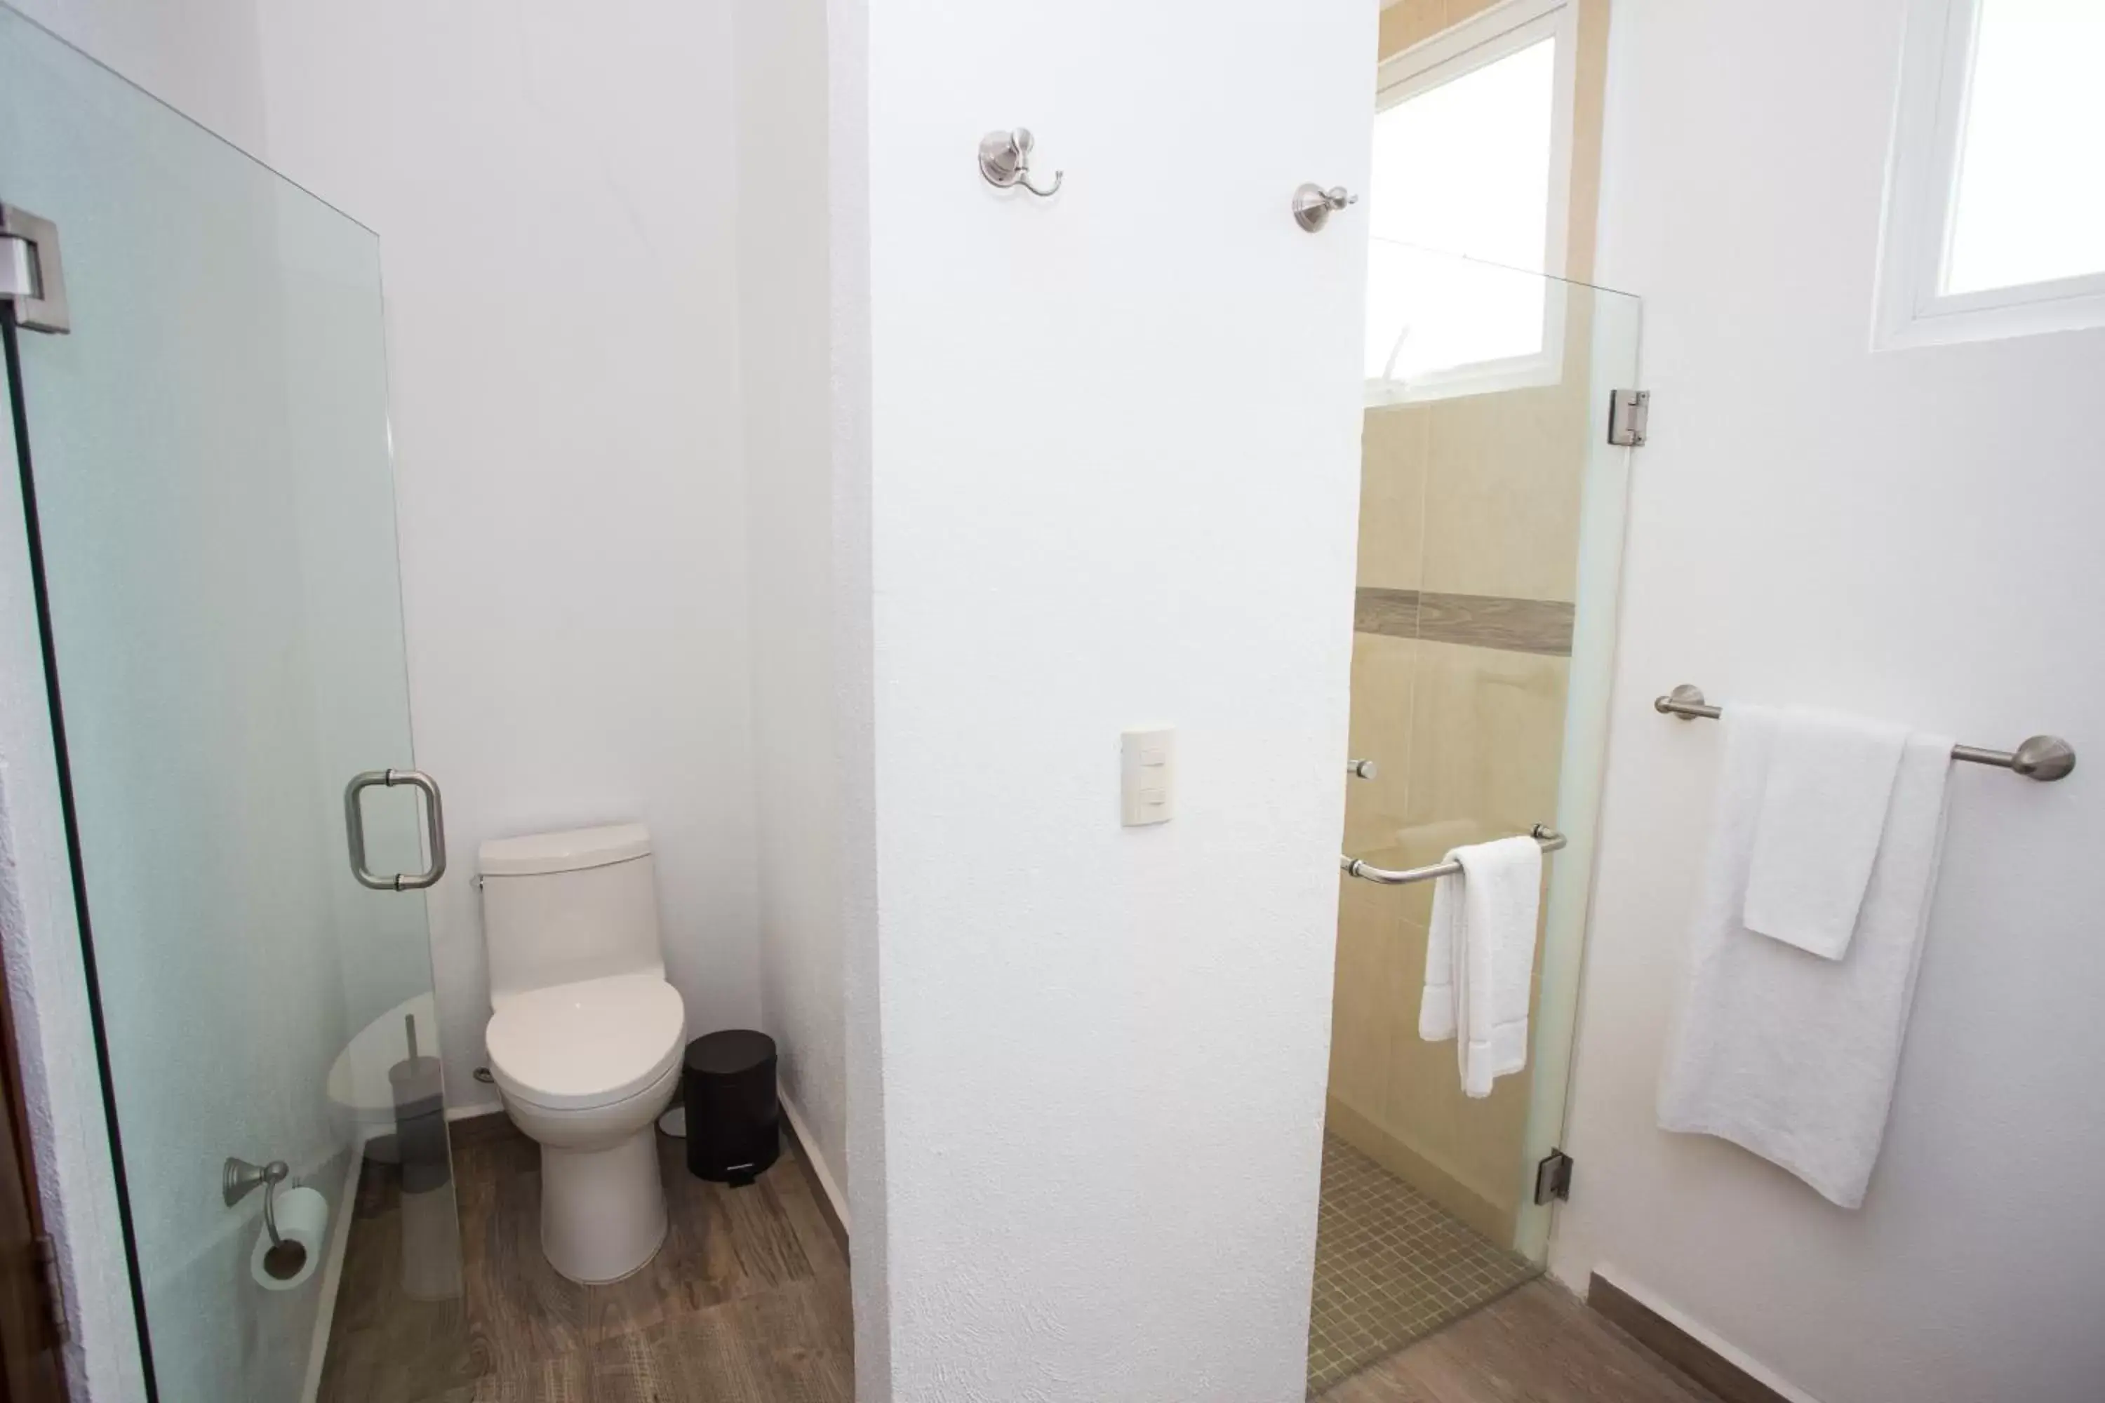
M 1528 1064 L 1535 984 L 1535 915 L 1543 898 L 1543 846 L 1501 837 L 1457 848 L 1459 877 L 1434 879 L 1419 1037 L 1455 1039 L 1465 1096 L 1490 1096 L 1495 1077 Z

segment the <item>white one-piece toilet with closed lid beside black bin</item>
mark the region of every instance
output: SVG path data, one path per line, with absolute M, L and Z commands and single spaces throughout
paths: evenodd
M 490 1075 L 541 1144 L 541 1252 L 619 1281 L 665 1241 L 653 1121 L 680 1085 L 686 1012 L 665 982 L 650 833 L 482 843 Z

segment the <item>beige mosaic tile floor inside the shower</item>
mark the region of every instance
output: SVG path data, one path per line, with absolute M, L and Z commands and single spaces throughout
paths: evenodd
M 1537 1268 L 1324 1136 L 1309 1397 L 1530 1281 Z

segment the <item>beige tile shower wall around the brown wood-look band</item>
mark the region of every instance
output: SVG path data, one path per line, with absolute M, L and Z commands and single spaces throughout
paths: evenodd
M 1490 0 L 1400 0 L 1387 57 Z M 1604 80 L 1604 0 L 1579 11 L 1570 267 L 1589 269 Z M 1368 410 L 1360 568 L 1368 587 L 1572 599 L 1587 461 L 1591 307 L 1566 307 L 1564 385 Z M 1556 816 L 1566 658 L 1354 635 L 1354 780 L 1345 850 L 1381 867 Z M 1417 1035 L 1431 886 L 1343 881 L 1330 1041 L 1330 1127 L 1499 1243 L 1524 1184 L 1528 1077 L 1461 1094 L 1452 1043 Z

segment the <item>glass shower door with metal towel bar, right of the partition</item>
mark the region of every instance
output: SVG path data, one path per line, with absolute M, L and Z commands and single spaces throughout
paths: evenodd
M 1345 854 L 1423 867 L 1535 825 L 1568 846 L 1543 860 L 1528 1069 L 1482 1100 L 1419 1039 L 1431 881 L 1341 879 L 1311 1384 L 1543 1264 L 1629 473 L 1608 408 L 1638 385 L 1633 297 L 1387 240 L 1368 284 L 1349 755 L 1372 764 Z

